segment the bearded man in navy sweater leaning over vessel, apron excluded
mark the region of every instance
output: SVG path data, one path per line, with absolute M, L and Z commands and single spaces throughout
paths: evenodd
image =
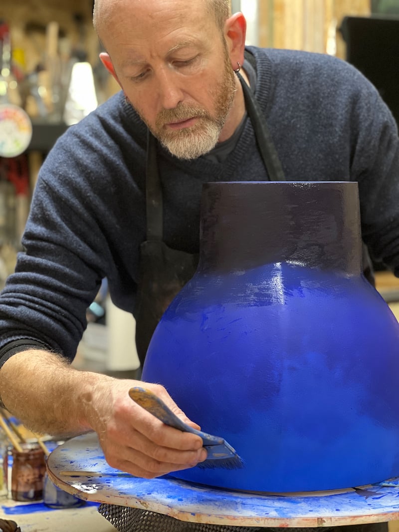
M 0 395 L 37 431 L 95 430 L 110 465 L 151 478 L 203 461 L 200 438 L 132 403 L 135 381 L 69 365 L 102 278 L 117 305 L 142 315 L 140 246 L 154 229 L 147 152 L 161 182 L 163 242 L 189 261 L 204 182 L 284 172 L 287 180 L 358 180 L 363 238 L 399 273 L 399 143 L 360 73 L 315 54 L 245 52 L 244 17 L 229 16 L 226 0 L 97 0 L 94 22 L 123 93 L 71 127 L 41 169 L 26 254 L 0 301 Z M 268 153 L 280 161 L 272 170 L 254 134 L 264 118 Z M 186 420 L 162 386 L 148 386 Z

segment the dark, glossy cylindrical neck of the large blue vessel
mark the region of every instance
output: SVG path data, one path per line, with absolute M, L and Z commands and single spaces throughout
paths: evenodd
M 361 274 L 356 182 L 219 182 L 203 187 L 198 271 L 287 262 Z

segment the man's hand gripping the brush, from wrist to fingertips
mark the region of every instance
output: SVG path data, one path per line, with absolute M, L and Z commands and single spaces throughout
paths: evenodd
M 95 411 L 88 408 L 92 412 L 89 416 L 94 414 L 90 425 L 99 436 L 106 461 L 137 477 L 154 478 L 205 460 L 206 451 L 199 436 L 164 425 L 131 400 L 129 389 L 142 385 L 139 381 L 113 379 L 106 390 L 95 390 L 94 401 L 89 401 L 96 404 Z M 184 415 L 165 388 L 148 383 L 145 386 L 184 422 L 200 428 Z

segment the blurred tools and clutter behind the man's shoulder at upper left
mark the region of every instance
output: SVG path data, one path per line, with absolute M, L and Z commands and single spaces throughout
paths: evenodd
M 21 251 L 44 157 L 68 126 L 116 88 L 98 64 L 101 50 L 93 30 L 89 36 L 86 29 L 91 2 L 68 16 L 54 6 L 63 23 L 41 23 L 51 17 L 51 6 L 31 4 L 0 7 L 0 288 Z

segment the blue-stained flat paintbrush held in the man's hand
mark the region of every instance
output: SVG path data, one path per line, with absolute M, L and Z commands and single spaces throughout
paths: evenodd
M 174 414 L 168 406 L 150 390 L 137 386 L 130 388 L 129 396 L 138 405 L 147 410 L 147 412 L 155 415 L 157 419 L 165 423 L 165 425 L 174 427 L 182 432 L 196 434 L 202 438 L 203 446 L 206 449 L 208 456 L 204 462 L 197 464 L 199 468 L 237 469 L 243 467 L 242 459 L 225 439 L 219 436 L 206 434 L 201 430 L 196 430 L 193 427 L 190 427 L 187 423 L 184 423 L 184 421 L 178 418 L 177 415 Z

